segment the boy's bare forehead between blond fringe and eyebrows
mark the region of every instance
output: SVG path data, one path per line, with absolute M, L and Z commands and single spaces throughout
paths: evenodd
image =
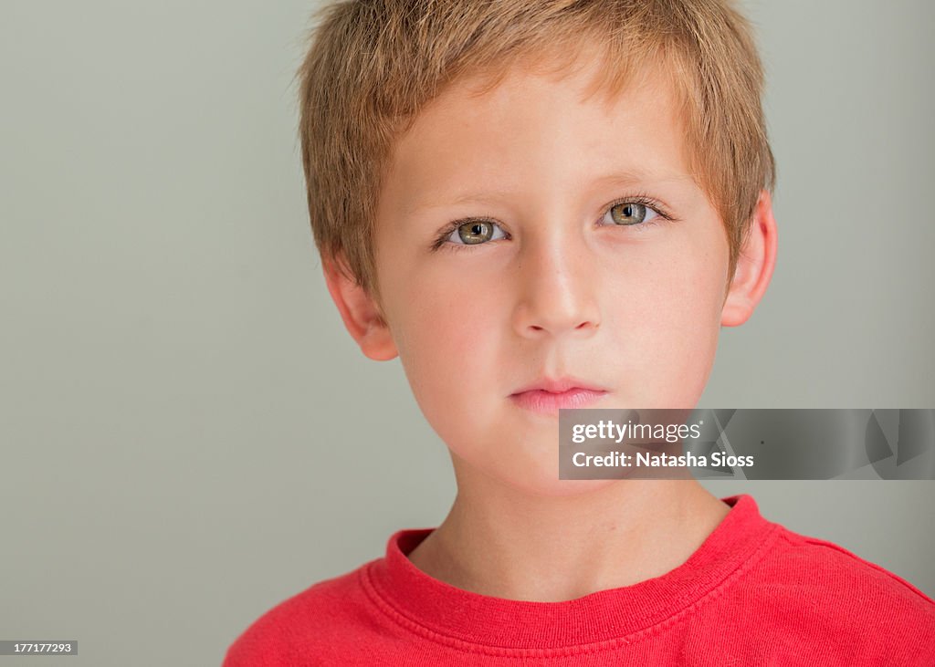
M 527 178 L 567 178 L 572 163 L 587 186 L 694 184 L 670 79 L 644 69 L 605 94 L 599 66 L 513 64 L 494 86 L 485 73 L 453 81 L 396 140 L 398 210 L 499 199 Z

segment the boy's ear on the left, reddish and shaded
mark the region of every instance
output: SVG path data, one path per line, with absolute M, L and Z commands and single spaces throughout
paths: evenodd
M 344 326 L 370 359 L 386 362 L 398 352 L 380 305 L 352 277 L 343 258 L 322 260 L 324 282 Z

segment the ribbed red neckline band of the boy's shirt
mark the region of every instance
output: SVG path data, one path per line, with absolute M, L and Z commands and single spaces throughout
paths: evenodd
M 367 564 L 364 579 L 410 623 L 470 644 L 541 649 L 620 639 L 698 602 L 761 551 L 779 528 L 760 516 L 750 495 L 722 502 L 731 510 L 682 565 L 633 586 L 576 600 L 506 600 L 457 589 L 426 575 L 407 554 L 435 530 L 431 528 L 394 533 L 385 557 Z

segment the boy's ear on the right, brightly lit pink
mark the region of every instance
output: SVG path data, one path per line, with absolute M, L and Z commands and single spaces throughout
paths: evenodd
M 750 230 L 721 310 L 721 325 L 736 327 L 753 315 L 776 266 L 776 220 L 769 191 L 760 192 Z

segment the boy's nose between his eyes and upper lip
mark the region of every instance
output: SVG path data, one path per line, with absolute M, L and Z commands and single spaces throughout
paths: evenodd
M 526 338 L 585 337 L 600 326 L 596 263 L 583 238 L 567 227 L 540 228 L 517 254 L 513 326 Z

